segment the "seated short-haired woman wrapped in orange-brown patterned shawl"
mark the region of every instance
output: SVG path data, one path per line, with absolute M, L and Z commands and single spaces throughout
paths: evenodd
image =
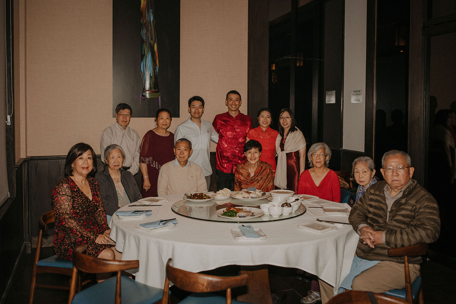
M 244 155 L 247 161 L 238 164 L 234 170 L 234 191 L 241 191 L 249 187 L 265 192 L 274 190 L 272 166 L 259 160 L 261 144 L 256 140 L 249 140 L 244 144 Z

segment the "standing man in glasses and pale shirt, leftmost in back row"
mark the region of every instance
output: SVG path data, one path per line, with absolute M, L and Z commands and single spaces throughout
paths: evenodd
M 139 171 L 141 140 L 138 132 L 128 126 L 133 111 L 128 104 L 119 103 L 115 108 L 115 112 L 116 123 L 104 129 L 101 134 L 101 155 L 104 155 L 104 149 L 110 144 L 121 146 L 125 152 L 122 169 L 130 171 L 135 176 L 136 183 L 141 185 L 141 173 Z M 104 162 L 103 157 L 101 161 Z

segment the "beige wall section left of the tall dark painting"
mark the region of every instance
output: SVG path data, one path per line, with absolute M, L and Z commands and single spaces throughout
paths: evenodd
M 112 103 L 111 0 L 26 3 L 27 155 L 99 145 Z M 99 149 L 99 148 L 98 148 Z

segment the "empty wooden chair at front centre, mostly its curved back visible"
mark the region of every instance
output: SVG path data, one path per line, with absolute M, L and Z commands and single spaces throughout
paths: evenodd
M 241 304 L 231 299 L 231 289 L 247 284 L 249 277 L 247 274 L 236 277 L 218 277 L 202 273 L 192 273 L 171 266 L 172 259 L 166 262 L 166 280 L 163 288 L 162 303 L 169 302 L 168 291 L 170 282 L 182 290 L 193 292 L 180 304 Z M 212 292 L 226 290 L 226 298 L 212 294 Z M 199 294 L 198 294 L 199 293 Z

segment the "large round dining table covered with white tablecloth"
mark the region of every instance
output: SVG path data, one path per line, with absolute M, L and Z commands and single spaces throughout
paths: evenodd
M 255 229 L 261 229 L 266 234 L 266 238 L 235 240 L 231 230 L 238 229 L 243 220 L 214 222 L 183 216 L 175 212 L 176 205 L 179 206 L 180 201 L 183 200 L 183 194 L 163 196 L 163 198 L 167 201 L 161 203 L 161 206 L 127 205 L 120 209 L 122 211 L 152 210 L 151 216 L 121 220 L 114 214 L 109 224 L 112 228 L 110 237 L 116 242 L 116 249 L 122 252 L 122 260 L 140 261 L 140 267 L 133 272 L 136 281 L 140 283 L 163 288 L 166 277 L 165 265 L 169 258 L 173 259 L 174 267 L 190 272 L 207 271 L 227 265 L 275 265 L 299 268 L 331 284 L 335 293 L 350 271 L 359 239 L 351 225 L 327 224 L 335 225 L 337 229 L 325 232 L 309 231 L 298 227 L 301 224 L 314 223 L 317 218 L 328 219 L 319 207 L 320 204 L 321 206 L 342 206 L 340 203 L 325 200 L 304 201 L 302 205 L 307 207 L 304 213 L 294 217 L 292 213 L 289 218 L 279 221 L 268 221 L 272 217 L 264 215 L 262 217 L 265 222 L 253 222 L 250 225 Z M 236 201 L 236 204 L 242 204 L 237 200 L 233 201 Z M 269 203 L 269 201 L 264 199 L 255 202 L 255 204 L 261 203 Z M 135 203 L 131 205 L 133 204 Z M 219 204 L 217 201 L 213 202 L 214 206 L 217 204 Z M 350 208 L 347 204 L 343 205 Z M 207 209 L 204 206 L 191 206 L 195 214 L 198 214 L 198 208 Z M 149 232 L 136 227 L 140 223 L 171 218 L 176 218 L 178 221 L 171 229 Z M 347 222 L 347 216 L 332 216 L 329 220 Z M 267 280 L 267 266 L 259 271 L 259 276 Z M 269 296 L 266 296 L 266 298 L 269 297 L 268 301 L 255 299 L 258 298 L 258 293 L 254 292 L 254 284 L 263 285 L 259 288 L 265 287 L 265 284 L 264 280 L 263 283 L 254 281 L 258 279 L 249 280 L 248 295 L 242 299 L 238 297 L 238 300 L 272 303 L 269 290 L 267 292 Z M 269 289 L 269 283 L 266 287 Z

